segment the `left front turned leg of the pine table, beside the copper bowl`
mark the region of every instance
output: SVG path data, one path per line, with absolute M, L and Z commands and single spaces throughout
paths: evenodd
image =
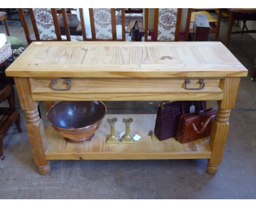
M 33 151 L 34 162 L 38 166 L 39 173 L 46 175 L 50 172 L 50 166 L 45 157 L 47 148 L 46 136 L 42 119 L 39 118 L 37 102 L 32 99 L 28 78 L 15 77 L 21 108 L 26 113 L 27 133 Z

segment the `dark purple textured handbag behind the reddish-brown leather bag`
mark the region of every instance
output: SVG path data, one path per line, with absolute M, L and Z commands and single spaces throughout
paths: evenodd
M 189 113 L 191 105 L 195 106 L 195 112 L 200 112 L 206 108 L 206 101 L 162 101 L 156 115 L 155 136 L 159 140 L 176 136 L 179 118 Z

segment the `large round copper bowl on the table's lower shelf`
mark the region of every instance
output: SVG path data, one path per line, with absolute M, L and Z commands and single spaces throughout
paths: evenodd
M 61 101 L 46 113 L 46 119 L 67 142 L 88 142 L 101 126 L 107 108 L 101 101 Z

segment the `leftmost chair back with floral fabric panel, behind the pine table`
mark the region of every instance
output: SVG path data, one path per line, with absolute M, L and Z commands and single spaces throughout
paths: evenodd
M 56 9 L 38 8 L 28 9 L 28 11 L 30 13 L 32 27 L 34 35 L 36 36 L 36 40 L 31 39 L 30 29 L 27 24 L 24 9 L 19 9 L 21 23 L 24 28 L 28 44 L 31 44 L 32 41 L 61 41 L 61 32 L 59 22 L 57 19 Z M 67 34 L 67 40 L 70 41 L 66 9 L 61 9 L 61 11 L 63 15 L 63 21 L 66 20 L 65 30 Z

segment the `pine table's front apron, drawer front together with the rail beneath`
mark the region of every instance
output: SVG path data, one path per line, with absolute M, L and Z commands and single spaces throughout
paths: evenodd
M 221 79 L 30 78 L 35 101 L 222 100 Z M 187 88 L 187 89 L 186 89 Z M 195 89 L 194 89 L 195 88 Z

